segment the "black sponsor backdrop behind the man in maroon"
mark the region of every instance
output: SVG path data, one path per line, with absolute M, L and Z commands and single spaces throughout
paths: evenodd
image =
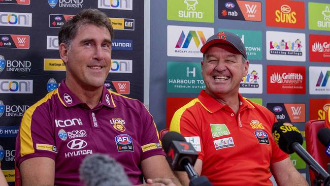
M 113 65 L 105 85 L 143 101 L 143 2 L 0 0 L 0 161 L 10 185 L 15 180 L 15 138 L 24 111 L 65 77 L 58 54 L 59 27 L 86 8 L 106 13 L 115 29 Z

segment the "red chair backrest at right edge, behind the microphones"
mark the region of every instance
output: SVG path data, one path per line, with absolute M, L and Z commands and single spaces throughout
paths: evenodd
M 319 163 L 324 170 L 327 170 L 327 163 L 330 163 L 330 157 L 325 154 L 325 147 L 317 139 L 317 132 L 324 128 L 324 120 L 310 120 L 306 122 L 306 148 L 311 156 Z M 311 183 L 315 178 L 314 172 L 309 169 Z

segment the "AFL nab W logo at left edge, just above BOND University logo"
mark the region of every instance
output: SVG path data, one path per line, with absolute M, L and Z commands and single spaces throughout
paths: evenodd
M 30 48 L 30 36 L 0 34 L 0 48 Z

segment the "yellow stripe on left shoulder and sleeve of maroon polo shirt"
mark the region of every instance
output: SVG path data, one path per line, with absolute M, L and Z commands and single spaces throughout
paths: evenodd
M 43 99 L 28 108 L 22 118 L 21 129 L 20 129 L 20 153 L 21 157 L 29 153 L 34 153 L 35 148 L 33 147 L 33 140 L 31 136 L 31 120 L 32 114 L 35 112 L 38 106 L 47 102 L 53 95 L 57 94 L 57 88 L 49 92 Z

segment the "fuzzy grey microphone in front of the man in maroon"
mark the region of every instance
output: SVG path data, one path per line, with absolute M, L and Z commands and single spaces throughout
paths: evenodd
M 87 156 L 79 168 L 80 179 L 86 186 L 131 186 L 123 167 L 106 154 Z

